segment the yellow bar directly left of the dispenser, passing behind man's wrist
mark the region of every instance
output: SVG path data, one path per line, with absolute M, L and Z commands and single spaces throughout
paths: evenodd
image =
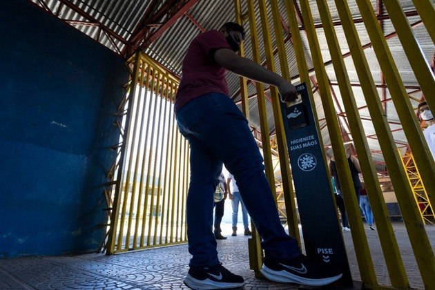
M 278 57 L 280 60 L 281 75 L 287 81 L 290 81 L 289 65 L 287 61 L 287 55 L 284 46 L 284 36 L 282 35 L 282 27 L 280 21 L 280 11 L 278 10 L 278 1 L 271 0 L 271 11 L 273 19 L 273 28 L 275 30 L 276 45 L 278 47 Z M 262 17 L 263 19 L 263 17 Z M 267 20 L 267 14 L 264 14 L 265 23 L 269 23 Z M 275 65 L 273 64 L 273 51 L 271 47 L 270 34 L 264 35 L 263 39 L 267 41 L 269 45 L 266 47 L 266 59 L 269 69 L 275 71 Z M 270 63 L 270 64 L 269 64 Z M 289 151 L 287 151 L 287 139 L 284 133 L 284 123 L 281 117 L 280 99 L 278 97 L 278 90 L 276 87 L 271 88 L 272 106 L 273 106 L 273 118 L 275 120 L 276 139 L 278 145 L 278 153 L 280 160 L 280 169 L 282 177 L 282 190 L 284 194 L 285 211 L 287 215 L 287 222 L 289 223 L 289 233 L 292 237 L 298 240 L 300 247 L 300 235 L 298 226 L 298 214 L 296 213 L 295 194 L 293 192 L 293 185 L 291 183 L 291 171 L 289 164 Z

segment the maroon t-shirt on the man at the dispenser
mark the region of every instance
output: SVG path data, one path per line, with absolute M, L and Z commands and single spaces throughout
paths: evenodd
M 202 95 L 222 93 L 229 96 L 226 69 L 213 59 L 213 52 L 220 48 L 231 49 L 218 30 L 204 32 L 193 39 L 183 61 L 182 79 L 175 99 L 175 113 L 188 101 Z

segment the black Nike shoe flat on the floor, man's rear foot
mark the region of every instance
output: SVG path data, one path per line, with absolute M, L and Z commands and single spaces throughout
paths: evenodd
M 219 263 L 213 267 L 191 267 L 184 284 L 191 289 L 231 289 L 242 287 L 244 280 Z

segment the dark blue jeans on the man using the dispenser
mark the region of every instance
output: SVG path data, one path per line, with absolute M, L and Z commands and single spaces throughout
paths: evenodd
M 263 158 L 247 119 L 233 100 L 220 93 L 189 101 L 176 114 L 180 133 L 191 148 L 191 180 L 186 201 L 191 266 L 218 264 L 213 235 L 213 193 L 222 164 L 238 182 L 244 205 L 272 258 L 300 255 L 296 239 L 285 233 L 264 175 Z

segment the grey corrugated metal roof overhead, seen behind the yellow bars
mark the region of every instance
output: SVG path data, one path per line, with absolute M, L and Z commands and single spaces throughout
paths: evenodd
M 40 0 L 31 0 L 38 5 L 41 6 Z M 122 41 L 119 41 L 118 39 L 113 39 L 108 37 L 108 33 L 101 31 L 99 26 L 93 26 L 90 25 L 90 23 L 87 23 L 87 25 L 84 25 L 85 23 L 77 23 L 77 21 L 87 21 L 88 19 L 85 19 L 85 17 L 82 17 L 77 12 L 71 10 L 68 8 L 65 3 L 70 3 L 80 10 L 83 10 L 86 14 L 88 14 L 90 17 L 95 19 L 98 23 L 101 23 L 102 26 L 105 26 L 107 30 L 110 30 L 113 32 L 113 34 L 118 35 L 122 39 L 129 40 L 133 36 L 133 32 L 135 31 L 135 28 L 139 25 L 139 21 L 144 17 L 144 13 L 151 8 L 152 5 L 154 10 L 157 8 L 162 7 L 164 3 L 167 3 L 168 1 L 165 0 L 144 0 L 144 1 L 137 1 L 137 0 L 123 0 L 123 1 L 110 1 L 110 0 L 43 0 L 43 3 L 46 3 L 46 6 L 51 10 L 53 14 L 56 16 L 59 16 L 61 19 L 66 19 L 67 21 L 76 21 L 75 23 L 71 23 L 72 26 L 75 28 L 81 30 L 81 32 L 84 32 L 86 35 L 92 37 L 93 39 L 96 39 L 100 43 L 104 44 L 104 46 L 107 46 L 108 48 L 115 50 L 116 52 L 119 52 L 119 50 L 122 50 L 124 48 L 124 44 Z M 268 2 L 267 2 L 268 3 Z M 338 16 L 338 12 L 336 9 L 335 1 L 328 0 L 327 1 L 329 10 L 331 12 L 331 18 L 333 21 L 340 21 L 340 18 Z M 358 6 L 356 4 L 356 0 L 353 1 L 347 1 L 349 5 L 349 9 L 351 10 L 351 14 L 354 16 L 354 19 L 360 18 L 360 12 L 358 10 Z M 374 6 L 374 10 L 376 11 L 376 5 L 377 0 L 371 0 L 372 6 Z M 400 0 L 400 4 L 405 11 L 413 11 L 415 10 L 414 4 L 412 3 L 412 0 Z M 259 32 L 259 43 L 260 46 L 257 48 L 258 52 L 260 53 L 261 59 L 265 59 L 264 55 L 264 46 L 262 45 L 262 34 L 261 34 L 261 24 L 260 24 L 260 14 L 258 12 L 258 2 L 254 1 L 254 6 L 256 10 L 255 19 L 247 19 L 247 21 L 256 21 L 257 29 Z M 285 10 L 285 4 L 284 0 L 278 0 L 278 7 L 280 10 L 280 14 L 282 15 L 282 21 L 286 23 L 288 26 L 288 20 L 287 20 L 287 12 Z M 318 12 L 318 8 L 316 5 L 316 0 L 309 0 L 309 7 L 311 8 L 311 12 L 313 14 L 313 21 L 318 24 L 321 23 L 320 21 L 320 15 Z M 382 14 L 387 14 L 387 11 L 385 8 L 382 8 L 381 10 Z M 200 0 L 197 1 L 197 3 L 189 9 L 187 12 L 195 19 L 195 21 L 201 26 L 201 28 L 204 28 L 205 30 L 212 30 L 212 29 L 218 29 L 220 28 L 222 23 L 225 23 L 226 21 L 233 21 L 234 17 L 234 9 L 233 9 L 233 0 Z M 242 15 L 247 15 L 247 1 L 242 1 Z M 269 27 L 271 27 L 271 41 L 273 43 L 273 48 L 276 48 L 276 36 L 273 32 L 273 23 L 272 23 L 272 17 L 271 17 L 271 10 L 268 6 L 268 17 L 269 17 Z M 415 23 L 416 21 L 419 21 L 420 17 L 413 16 L 409 17 L 408 21 L 409 23 Z M 395 31 L 394 26 L 392 25 L 392 22 L 389 19 L 385 19 L 382 21 L 382 28 L 385 35 L 388 35 Z M 247 35 L 245 37 L 244 41 L 244 48 L 245 48 L 245 55 L 246 57 L 252 59 L 253 53 L 251 48 L 251 33 L 249 32 L 249 25 L 246 23 L 245 30 L 247 30 Z M 347 40 L 345 37 L 345 34 L 340 26 L 334 26 L 336 30 L 336 34 L 338 37 L 338 42 L 340 44 L 340 49 L 342 54 L 345 54 L 349 52 L 349 46 L 347 45 Z M 358 32 L 358 36 L 360 38 L 360 42 L 365 45 L 367 43 L 370 43 L 369 36 L 367 34 L 367 31 L 365 29 L 364 23 L 356 23 L 356 30 Z M 177 19 L 175 23 L 171 27 L 169 27 L 157 40 L 155 40 L 153 43 L 151 43 L 150 46 L 145 48 L 145 52 L 148 55 L 151 55 L 154 59 L 162 63 L 166 68 L 169 68 L 172 70 L 175 75 L 180 76 L 182 72 L 182 60 L 186 53 L 186 50 L 189 46 L 189 43 L 195 37 L 196 35 L 200 34 L 201 30 L 198 26 L 189 19 L 189 17 L 186 17 L 186 15 L 180 17 L 180 19 Z M 418 41 L 418 43 L 421 46 L 421 50 L 423 52 L 423 55 L 425 55 L 426 59 L 428 61 L 432 61 L 434 57 L 434 43 L 432 42 L 432 39 L 429 37 L 427 30 L 425 26 L 420 25 L 416 26 L 413 29 L 414 35 Z M 325 37 L 325 33 L 323 32 L 322 28 L 317 28 L 316 30 L 317 38 L 319 41 L 319 45 L 322 52 L 323 61 L 325 63 L 328 63 L 331 59 L 329 55 L 329 49 L 327 46 L 327 39 Z M 284 31 L 285 35 L 285 31 Z M 313 61 L 311 61 L 311 51 L 309 50 L 309 45 L 307 41 L 307 37 L 303 31 L 301 31 L 301 37 L 303 41 L 303 46 L 305 48 L 305 56 L 306 56 L 306 62 L 309 69 L 313 68 Z M 392 55 L 394 56 L 394 61 L 396 62 L 396 66 L 398 67 L 398 70 L 400 72 L 400 77 L 403 79 L 403 83 L 406 86 L 418 86 L 418 83 L 416 81 L 416 77 L 414 73 L 412 72 L 412 68 L 409 65 L 409 61 L 407 60 L 407 57 L 405 55 L 405 52 L 403 51 L 403 47 L 398 39 L 398 37 L 392 37 L 391 39 L 387 40 L 387 44 L 392 51 Z M 117 48 L 115 48 L 115 46 Z M 298 77 L 298 67 L 296 65 L 296 56 L 293 51 L 293 45 L 291 41 L 288 41 L 285 43 L 285 49 L 287 51 L 287 61 L 289 63 L 289 71 L 291 77 Z M 369 64 L 369 68 L 372 73 L 372 77 L 376 84 L 381 84 L 381 71 L 380 66 L 378 64 L 378 59 L 376 58 L 376 54 L 374 53 L 373 48 L 369 47 L 364 50 L 365 56 L 367 57 L 367 61 Z M 278 61 L 278 57 L 275 58 L 275 65 L 276 65 L 276 71 L 280 73 L 280 64 Z M 351 59 L 351 57 L 346 57 L 344 59 L 345 66 L 347 68 L 347 73 L 349 75 L 349 80 L 352 84 L 355 84 L 355 86 L 352 87 L 354 96 L 356 98 L 356 103 L 358 106 L 365 106 L 365 98 L 363 95 L 363 90 L 358 86 L 359 79 L 358 75 L 356 73 L 356 68 L 354 66 L 354 63 Z M 329 80 L 331 83 L 336 83 L 336 75 L 334 72 L 334 67 L 332 65 L 325 66 L 327 70 L 327 75 L 329 77 Z M 316 76 L 312 72 L 311 75 L 313 75 L 314 79 L 316 79 Z M 298 79 L 296 79 L 297 81 Z M 237 75 L 234 75 L 233 73 L 229 72 L 227 76 L 227 81 L 229 84 L 230 92 L 235 101 L 240 101 L 240 81 L 239 77 Z M 296 83 L 297 84 L 297 83 Z M 313 86 L 313 84 L 311 84 Z M 267 88 L 267 86 L 266 86 Z M 333 85 L 331 86 L 331 89 L 334 90 L 334 93 L 336 94 L 338 98 L 338 104 L 336 107 L 337 113 L 341 113 L 339 107 L 341 110 L 344 110 L 344 106 L 342 104 L 342 97 L 340 95 L 340 90 L 338 89 L 338 86 Z M 255 95 L 255 86 L 253 84 L 249 83 L 248 86 L 249 95 Z M 421 98 L 421 92 L 414 90 L 414 89 L 408 89 L 409 92 L 414 92 L 411 94 L 414 99 L 420 99 Z M 267 92 L 269 94 L 269 92 Z M 385 98 L 389 99 L 391 96 L 389 95 L 389 90 L 385 90 Z M 378 95 L 379 97 L 382 96 L 382 90 L 381 88 L 378 88 Z M 412 106 L 414 108 L 417 106 L 418 101 L 412 99 Z M 320 96 L 318 93 L 314 93 L 314 101 L 315 106 L 317 110 L 317 114 L 319 119 L 325 118 L 325 114 L 323 113 L 322 109 L 322 102 L 320 99 Z M 274 130 L 274 124 L 273 124 L 273 111 L 271 108 L 270 102 L 267 100 L 267 115 L 268 115 L 268 126 L 269 126 L 269 132 L 273 132 Z M 258 106 L 257 101 L 255 97 L 250 99 L 249 101 L 249 111 L 251 115 L 250 125 L 254 126 L 255 128 L 260 128 L 260 118 L 258 116 Z M 360 116 L 365 118 L 363 120 L 363 126 L 365 128 L 366 135 L 375 135 L 376 132 L 374 131 L 374 126 L 371 124 L 370 121 L 366 120 L 369 119 L 369 112 L 367 108 L 363 108 L 360 110 Z M 398 120 L 398 115 L 396 113 L 396 110 L 394 108 L 394 104 L 392 101 L 388 101 L 386 105 L 386 114 L 387 119 L 391 122 L 400 123 Z M 345 126 L 345 119 L 339 118 L 340 122 L 342 123 L 343 128 L 346 129 Z M 324 123 L 324 121 L 320 122 L 321 124 Z M 400 127 L 400 125 L 392 125 L 393 129 L 396 129 Z M 327 127 L 322 129 L 322 139 L 325 145 L 328 145 L 330 143 L 329 140 L 329 134 L 327 132 Z M 403 131 L 396 131 L 394 132 L 394 137 L 396 138 L 397 142 L 401 143 L 407 143 L 405 135 Z M 378 151 L 380 150 L 379 144 L 376 139 L 369 138 L 369 145 L 372 150 Z M 329 152 L 329 151 L 328 151 Z M 382 155 L 375 153 L 374 154 L 374 160 L 375 161 L 382 161 L 383 157 Z

